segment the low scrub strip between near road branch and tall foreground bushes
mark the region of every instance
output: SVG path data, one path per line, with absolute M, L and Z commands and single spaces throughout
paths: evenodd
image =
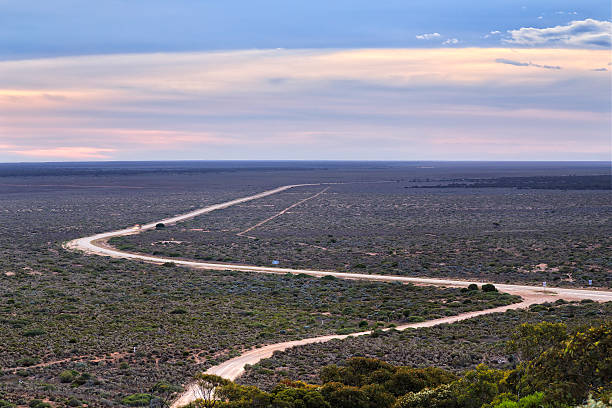
M 264 390 L 271 390 L 283 380 L 317 383 L 317 373 L 322 367 L 341 365 L 354 356 L 376 358 L 400 366 L 439 367 L 455 374 L 473 370 L 479 364 L 506 370 L 520 362 L 517 360 L 520 356 L 507 347 L 507 342 L 521 324 L 549 322 L 575 330 L 589 323 L 599 324 L 610 320 L 610 302 L 560 301 L 533 305 L 527 310 L 509 310 L 453 324 L 402 332 L 376 332 L 370 336 L 294 347 L 248 366 L 238 382 L 256 385 Z M 524 338 L 530 337 L 526 335 Z M 535 345 L 527 346 L 521 345 L 522 350 L 532 350 L 533 354 L 526 356 L 527 359 L 535 358 L 542 352 Z

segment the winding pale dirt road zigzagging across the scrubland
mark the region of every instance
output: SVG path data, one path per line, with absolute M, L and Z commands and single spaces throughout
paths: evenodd
M 186 214 L 177 215 L 175 217 L 166 218 L 163 220 L 151 222 L 143 225 L 140 228 L 126 228 L 117 231 L 105 232 L 101 234 L 92 235 L 89 237 L 78 238 L 69 241 L 64 244 L 66 249 L 80 250 L 88 254 L 111 256 L 114 258 L 124 258 L 140 260 L 151 263 L 166 263 L 173 262 L 176 265 L 186 266 L 190 268 L 199 268 L 207 270 L 232 270 L 241 272 L 255 272 L 255 273 L 271 273 L 271 274 L 306 274 L 310 276 L 323 277 L 323 276 L 334 276 L 342 279 L 356 279 L 356 280 L 370 280 L 380 282 L 401 282 L 401 283 L 415 283 L 425 284 L 434 286 L 453 286 L 453 287 L 467 287 L 468 285 L 482 284 L 484 282 L 478 281 L 466 281 L 458 279 L 434 279 L 434 278 L 415 278 L 407 276 L 395 276 L 395 275 L 370 275 L 362 273 L 343 273 L 334 271 L 320 271 L 310 269 L 293 269 L 293 268 L 277 268 L 267 266 L 253 266 L 253 265 L 237 265 L 230 263 L 211 263 L 211 262 L 196 262 L 188 260 L 180 260 L 173 258 L 164 258 L 159 256 L 150 256 L 138 253 L 124 252 L 116 248 L 112 248 L 106 244 L 110 238 L 137 234 L 141 231 L 154 229 L 158 223 L 166 225 L 175 224 L 180 221 L 185 221 L 190 218 L 197 217 L 202 214 L 206 214 L 215 210 L 221 210 L 224 208 L 231 207 L 236 204 L 241 204 L 247 201 L 256 200 L 272 194 L 280 193 L 282 191 L 302 186 L 316 186 L 316 185 L 329 185 L 329 184 L 340 184 L 340 183 L 313 183 L 313 184 L 291 184 L 281 186 L 272 190 L 267 190 L 251 196 L 238 198 L 235 200 L 227 201 L 220 204 L 210 205 L 195 211 L 188 212 Z M 441 319 L 430 320 L 420 323 L 406 324 L 396 327 L 396 330 L 405 330 L 408 328 L 419 328 L 419 327 L 431 327 L 442 323 L 453 323 L 463 319 L 469 319 L 475 316 L 480 316 L 488 313 L 503 312 L 510 309 L 525 308 L 529 305 L 536 303 L 543 303 L 546 301 L 554 301 L 557 299 L 564 300 L 583 300 L 590 299 L 598 302 L 612 301 L 612 291 L 593 290 L 593 289 L 570 289 L 570 288 L 543 288 L 539 286 L 529 285 L 510 285 L 495 283 L 495 286 L 502 292 L 507 292 L 513 295 L 519 295 L 523 298 L 523 302 L 515 303 L 508 306 L 502 306 L 493 309 L 475 311 L 463 313 L 457 316 L 449 316 Z M 354 333 L 350 335 L 329 335 L 313 337 L 309 339 L 295 340 L 277 344 L 271 344 L 257 349 L 246 351 L 242 355 L 225 361 L 224 363 L 211 367 L 207 373 L 219 375 L 221 377 L 234 380 L 240 374 L 244 372 L 246 364 L 255 364 L 261 359 L 269 358 L 275 351 L 286 350 L 291 347 L 311 344 L 311 343 L 322 343 L 334 339 L 344 339 L 349 336 L 361 336 L 369 334 L 370 332 Z M 189 384 L 186 391 L 177 399 L 173 404 L 172 408 L 180 407 L 188 404 L 200 396 L 200 392 L 195 384 Z

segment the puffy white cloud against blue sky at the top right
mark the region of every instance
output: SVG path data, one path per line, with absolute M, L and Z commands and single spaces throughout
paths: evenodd
M 508 31 L 507 44 L 537 47 L 610 48 L 612 22 L 586 19 L 550 28 L 527 28 Z

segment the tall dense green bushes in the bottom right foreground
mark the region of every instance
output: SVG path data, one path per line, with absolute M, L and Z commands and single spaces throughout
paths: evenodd
M 554 341 L 545 335 L 549 329 L 548 323 L 539 323 L 521 326 L 513 334 L 517 354 L 528 355 L 531 345 L 544 351 L 509 370 L 480 364 L 458 377 L 436 367 L 398 367 L 357 357 L 342 366 L 324 367 L 320 385 L 286 380 L 262 391 L 200 377 L 205 389 L 214 384 L 218 400 L 202 399 L 190 407 L 569 408 L 589 398 L 612 402 L 610 322 L 572 333 L 560 325 L 563 339 Z

